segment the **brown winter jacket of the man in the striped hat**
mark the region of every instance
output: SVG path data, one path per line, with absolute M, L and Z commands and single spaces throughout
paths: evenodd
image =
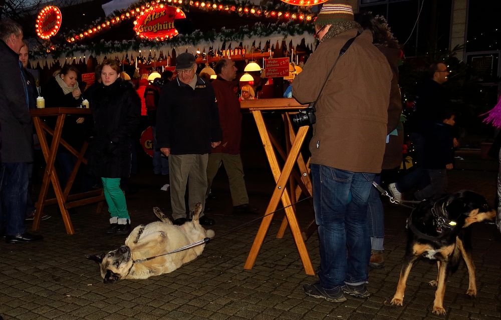
M 351 29 L 320 44 L 292 84 L 302 104 L 317 98 Z M 311 163 L 353 172 L 379 173 L 385 148 L 392 73 L 365 31 L 339 59 L 317 103 Z

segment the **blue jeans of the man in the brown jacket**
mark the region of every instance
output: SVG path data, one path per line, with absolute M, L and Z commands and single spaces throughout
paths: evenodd
M 333 289 L 367 280 L 371 242 L 367 201 L 374 173 L 312 164 L 313 207 L 320 238 L 320 284 Z

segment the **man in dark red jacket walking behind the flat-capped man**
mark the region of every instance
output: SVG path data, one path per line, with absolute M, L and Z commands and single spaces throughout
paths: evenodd
M 216 94 L 219 110 L 222 141 L 209 154 L 205 196 L 208 196 L 212 180 L 222 162 L 228 175 L 233 213 L 255 213 L 257 209 L 248 204 L 249 199 L 243 180 L 243 166 L 240 158 L 242 114 L 237 97 L 238 87 L 233 81 L 236 77 L 235 63 L 230 59 L 221 59 L 217 62 L 214 71 L 217 78 L 212 81 L 212 87 Z

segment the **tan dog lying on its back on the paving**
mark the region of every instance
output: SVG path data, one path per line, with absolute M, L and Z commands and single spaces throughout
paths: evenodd
M 192 212 L 192 220 L 179 226 L 173 225 L 155 207 L 153 212 L 161 221 L 139 225 L 125 239 L 125 245 L 108 253 L 88 255 L 87 258 L 99 264 L 104 283 L 122 279 L 147 279 L 153 275 L 172 272 L 199 256 L 205 244 L 172 254 L 162 254 L 214 236 L 214 231 L 205 230 L 198 222 L 201 211 L 202 205 L 197 203 Z M 154 256 L 158 257 L 135 262 Z

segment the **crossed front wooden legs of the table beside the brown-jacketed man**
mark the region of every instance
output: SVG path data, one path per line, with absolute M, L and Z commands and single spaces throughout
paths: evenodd
M 265 147 L 265 151 L 268 157 L 268 161 L 270 163 L 270 167 L 272 169 L 274 177 L 276 177 L 277 185 L 273 192 L 272 198 L 268 207 L 266 209 L 266 214 L 272 213 L 277 209 L 278 203 L 280 199 L 282 199 L 282 203 L 285 207 L 290 206 L 291 201 L 289 194 L 286 191 L 287 181 L 291 175 L 292 168 L 294 163 L 297 160 L 299 151 L 301 149 L 301 145 L 306 137 L 306 133 L 308 132 L 308 127 L 301 127 L 298 132 L 298 136 L 294 141 L 294 144 L 291 148 L 291 152 L 287 157 L 287 160 L 284 164 L 284 168 L 282 171 L 280 170 L 277 157 L 275 156 L 275 152 L 272 147 L 272 143 L 270 141 L 270 137 L 268 131 L 266 130 L 266 125 L 263 119 L 263 115 L 261 111 L 252 111 L 254 118 L 256 120 L 256 125 L 258 126 L 258 130 L 263 141 L 263 146 Z M 308 250 L 306 249 L 305 242 L 301 235 L 301 231 L 299 229 L 299 224 L 297 222 L 296 216 L 294 214 L 294 210 L 291 207 L 287 207 L 285 209 L 287 218 L 289 220 L 289 224 L 291 226 L 291 231 L 294 237 L 294 241 L 296 243 L 296 247 L 299 251 L 299 256 L 301 261 L 303 262 L 303 267 L 305 268 L 305 272 L 310 275 L 314 275 L 315 272 L 313 270 L 313 266 L 311 264 L 310 256 L 308 255 Z M 259 250 L 263 244 L 264 238 L 270 227 L 270 223 L 273 219 L 273 214 L 267 215 L 263 218 L 261 222 L 261 226 L 256 234 L 256 238 L 254 239 L 254 243 L 252 248 L 250 249 L 249 255 L 247 256 L 247 260 L 245 261 L 244 268 L 251 269 L 256 262 L 256 258 L 258 256 Z

